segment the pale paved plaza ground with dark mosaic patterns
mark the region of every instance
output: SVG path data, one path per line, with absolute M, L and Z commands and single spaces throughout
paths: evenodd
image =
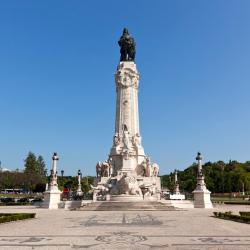
M 0 249 L 250 249 L 250 225 L 213 217 L 213 211 L 250 211 L 249 205 L 178 211 L 35 212 L 35 219 L 0 224 Z

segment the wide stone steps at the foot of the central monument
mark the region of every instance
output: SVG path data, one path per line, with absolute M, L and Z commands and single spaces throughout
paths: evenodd
M 81 211 L 173 211 L 173 206 L 161 202 L 93 202 L 80 207 Z

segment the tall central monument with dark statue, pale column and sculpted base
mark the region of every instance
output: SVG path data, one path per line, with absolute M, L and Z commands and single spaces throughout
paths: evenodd
M 115 133 L 108 160 L 96 165 L 94 200 L 107 197 L 113 201 L 158 200 L 159 166 L 150 162 L 142 146 L 135 41 L 126 28 L 118 44 L 121 56 L 115 73 Z

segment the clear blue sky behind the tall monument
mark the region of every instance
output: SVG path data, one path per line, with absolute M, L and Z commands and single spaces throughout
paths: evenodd
M 95 173 L 114 134 L 114 73 L 137 42 L 140 125 L 160 174 L 250 160 L 250 1 L 1 1 L 0 160 Z

